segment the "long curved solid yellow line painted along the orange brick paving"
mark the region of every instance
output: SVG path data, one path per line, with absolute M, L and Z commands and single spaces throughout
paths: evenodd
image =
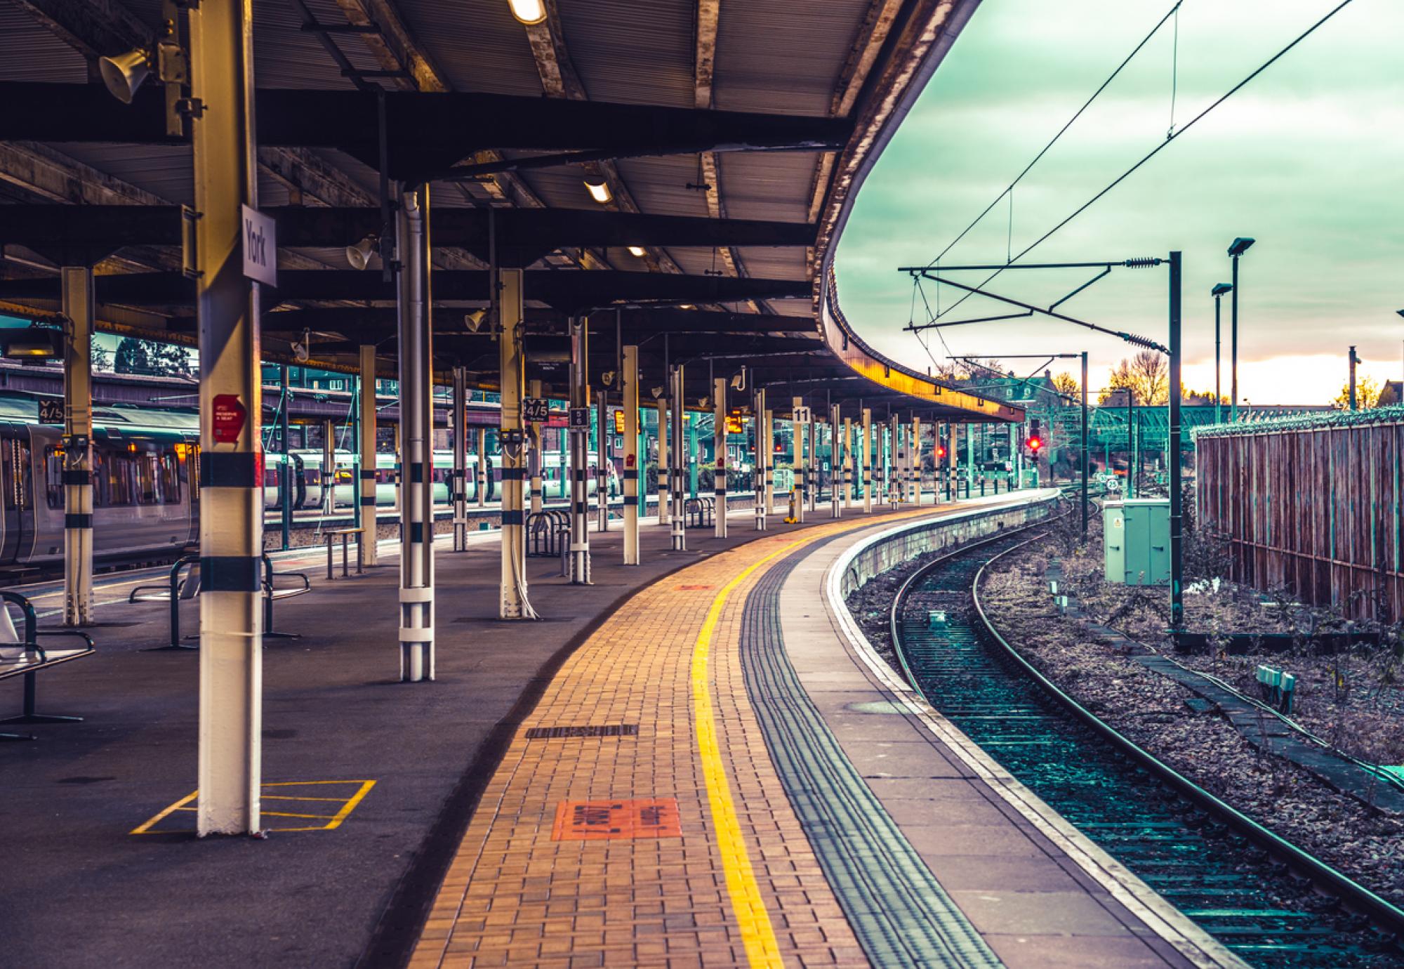
M 814 536 L 817 538 L 817 535 Z M 803 538 L 775 549 L 764 559 L 753 562 L 731 579 L 712 600 L 702 631 L 692 650 L 692 704 L 698 718 L 698 750 L 702 758 L 702 777 L 706 779 L 708 803 L 712 808 L 712 823 L 716 826 L 717 847 L 722 851 L 722 869 L 726 872 L 726 889 L 731 896 L 731 909 L 741 928 L 741 942 L 751 966 L 783 966 L 781 947 L 775 940 L 771 916 L 765 910 L 761 888 L 751 868 L 751 858 L 741 836 L 741 823 L 736 816 L 736 802 L 731 799 L 731 785 L 726 779 L 726 764 L 716 739 L 716 713 L 712 709 L 712 690 L 708 683 L 708 657 L 712 652 L 712 633 L 722 618 L 722 609 L 731 591 L 746 581 L 757 569 L 776 556 L 814 538 Z

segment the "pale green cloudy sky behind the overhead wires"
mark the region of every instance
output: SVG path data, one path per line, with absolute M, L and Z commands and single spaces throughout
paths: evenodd
M 1092 107 L 942 260 L 1002 264 L 1335 7 L 1338 0 L 1184 0 Z M 1077 352 L 1091 389 L 1136 348 L 1043 317 L 904 333 L 929 319 L 904 265 L 925 265 L 1038 154 L 1171 8 L 1170 0 L 984 0 L 858 194 L 837 251 L 845 315 L 925 369 L 953 354 Z M 1178 39 L 1177 39 L 1178 20 Z M 1346 379 L 1404 371 L 1404 1 L 1353 0 L 1119 187 L 1024 257 L 1184 251 L 1184 382 L 1213 389 L 1210 289 L 1240 263 L 1240 400 L 1328 403 Z M 1177 55 L 1178 48 L 1178 56 Z M 1174 86 L 1174 112 L 1171 94 Z M 1097 270 L 1005 272 L 990 288 L 1047 306 Z M 987 274 L 952 278 L 976 285 Z M 936 286 L 925 284 L 936 310 Z M 1167 343 L 1168 274 L 1113 270 L 1059 312 Z M 960 294 L 939 294 L 941 310 Z M 945 320 L 1007 312 L 974 296 Z M 1012 308 L 1008 312 L 1012 310 Z M 939 333 L 939 336 L 938 336 Z M 1223 392 L 1228 393 L 1228 298 Z M 1038 360 L 1007 361 L 1021 374 Z M 1068 367 L 1068 365 L 1073 367 Z M 1054 361 L 1073 369 L 1077 361 Z

